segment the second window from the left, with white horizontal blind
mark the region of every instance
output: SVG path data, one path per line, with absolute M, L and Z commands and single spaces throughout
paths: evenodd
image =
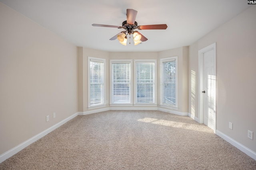
M 131 104 L 132 60 L 110 60 L 110 104 Z

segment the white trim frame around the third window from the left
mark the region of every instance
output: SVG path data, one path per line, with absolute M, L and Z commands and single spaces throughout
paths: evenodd
M 154 103 L 136 103 L 136 63 L 155 63 L 154 71 L 155 71 L 155 83 L 154 83 L 154 93 L 155 93 L 155 102 Z M 155 106 L 157 105 L 157 60 L 156 59 L 136 59 L 134 60 L 134 106 Z

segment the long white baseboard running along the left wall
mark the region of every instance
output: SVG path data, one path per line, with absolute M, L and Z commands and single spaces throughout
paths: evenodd
M 53 130 L 57 129 L 58 127 L 60 127 L 61 125 L 64 125 L 66 122 L 70 121 L 71 119 L 73 119 L 74 117 L 76 117 L 78 115 L 78 112 L 75 113 L 74 115 L 71 115 L 70 117 L 60 121 L 59 123 L 53 125 L 52 127 L 49 127 L 48 129 L 46 129 L 45 131 L 42 131 L 41 133 L 37 134 L 36 136 L 28 139 L 27 141 L 21 143 L 20 145 L 14 147 L 13 149 L 8 150 L 7 152 L 3 153 L 0 155 L 0 163 L 4 162 L 6 159 L 10 158 L 11 156 L 13 156 L 14 154 L 20 152 L 20 150 L 28 147 L 28 145 L 34 143 L 35 141 L 37 141 L 38 139 L 44 137 L 45 135 L 47 135 L 48 133 L 52 132 Z

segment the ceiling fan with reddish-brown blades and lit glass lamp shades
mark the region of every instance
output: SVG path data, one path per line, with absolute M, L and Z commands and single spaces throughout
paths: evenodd
M 133 9 L 126 10 L 127 20 L 122 23 L 122 26 L 115 26 L 115 25 L 103 25 L 103 24 L 92 24 L 92 26 L 96 27 L 113 27 L 113 28 L 123 28 L 126 31 L 122 31 L 115 35 L 114 37 L 110 38 L 110 40 L 115 40 L 116 38 L 119 42 L 123 45 L 126 45 L 127 42 L 127 35 L 133 35 L 134 38 L 134 45 L 138 45 L 141 41 L 147 41 L 148 39 L 144 37 L 140 32 L 134 31 L 134 29 L 166 29 L 166 24 L 157 24 L 157 25 L 139 25 L 135 21 L 138 11 Z

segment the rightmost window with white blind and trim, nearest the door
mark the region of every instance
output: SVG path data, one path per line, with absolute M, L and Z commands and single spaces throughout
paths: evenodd
M 160 59 L 160 105 L 178 107 L 178 57 Z

